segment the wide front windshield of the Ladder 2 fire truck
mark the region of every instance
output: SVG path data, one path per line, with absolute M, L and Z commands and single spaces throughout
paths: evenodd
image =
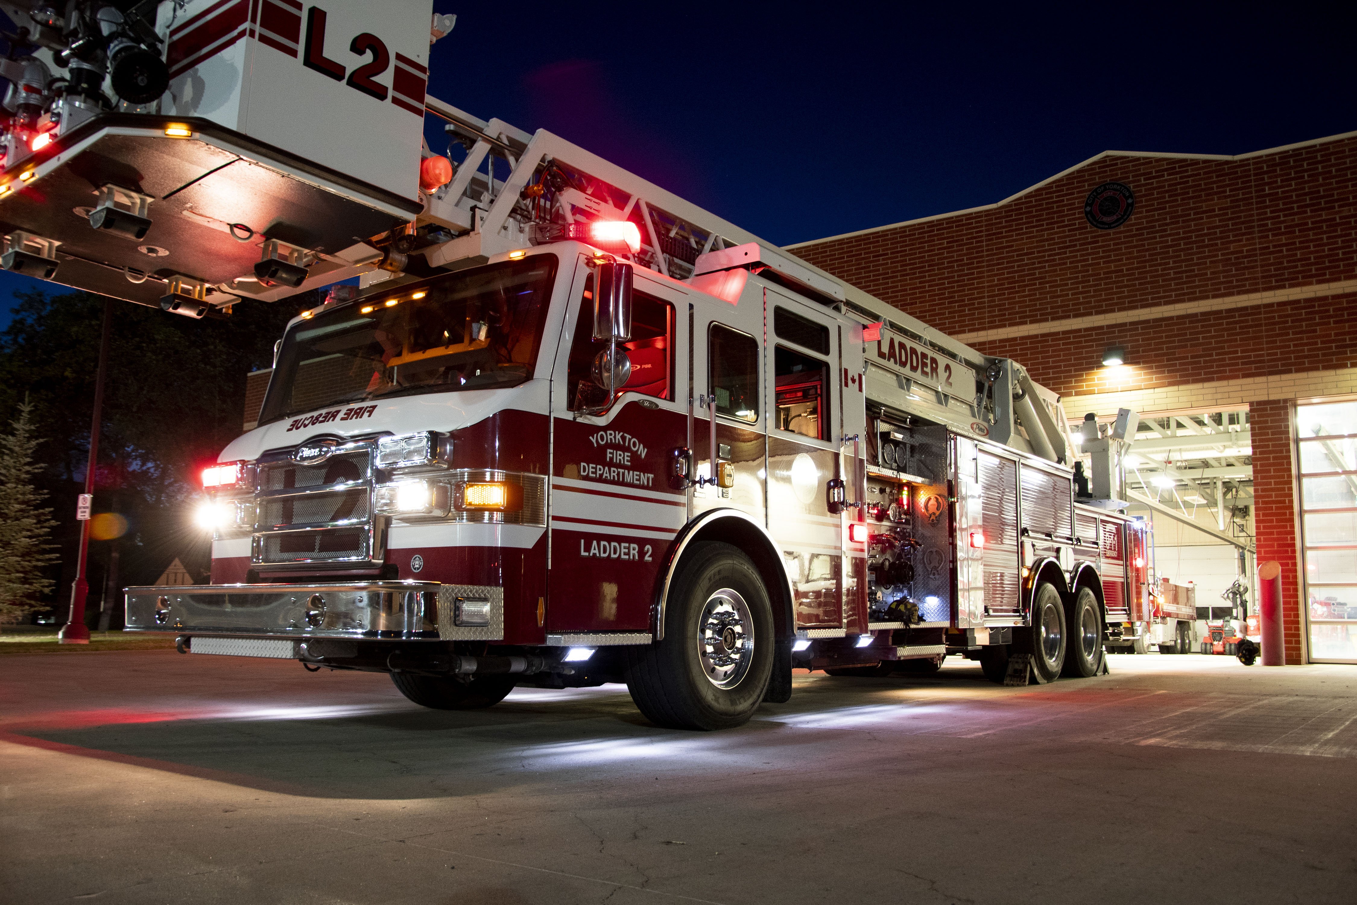
M 537 361 L 555 275 L 555 255 L 533 255 L 304 320 L 284 338 L 259 423 L 346 402 L 521 384 Z

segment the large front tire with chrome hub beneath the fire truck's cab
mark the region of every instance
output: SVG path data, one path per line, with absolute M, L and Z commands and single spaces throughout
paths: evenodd
M 759 570 L 738 547 L 699 543 L 670 588 L 664 640 L 630 651 L 627 689 L 657 726 L 742 726 L 768 688 L 773 647 Z

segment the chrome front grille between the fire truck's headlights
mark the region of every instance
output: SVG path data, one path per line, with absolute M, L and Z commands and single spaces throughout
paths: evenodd
M 380 559 L 380 526 L 372 512 L 372 442 L 342 444 L 318 463 L 297 464 L 290 455 L 259 461 L 252 560 L 278 566 Z

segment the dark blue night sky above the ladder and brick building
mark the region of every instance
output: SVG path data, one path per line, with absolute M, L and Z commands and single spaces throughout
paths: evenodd
M 433 95 L 779 244 L 989 204 L 1106 149 L 1357 129 L 1357 14 L 1338 3 L 437 9 L 457 27 L 433 47 Z M 30 282 L 3 274 L 0 323 Z

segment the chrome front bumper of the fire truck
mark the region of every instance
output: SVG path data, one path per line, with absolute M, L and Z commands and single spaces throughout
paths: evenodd
M 489 625 L 459 623 L 489 601 Z M 482 608 L 483 611 L 483 608 Z M 126 630 L 244 638 L 502 640 L 503 589 L 417 581 L 128 588 Z

